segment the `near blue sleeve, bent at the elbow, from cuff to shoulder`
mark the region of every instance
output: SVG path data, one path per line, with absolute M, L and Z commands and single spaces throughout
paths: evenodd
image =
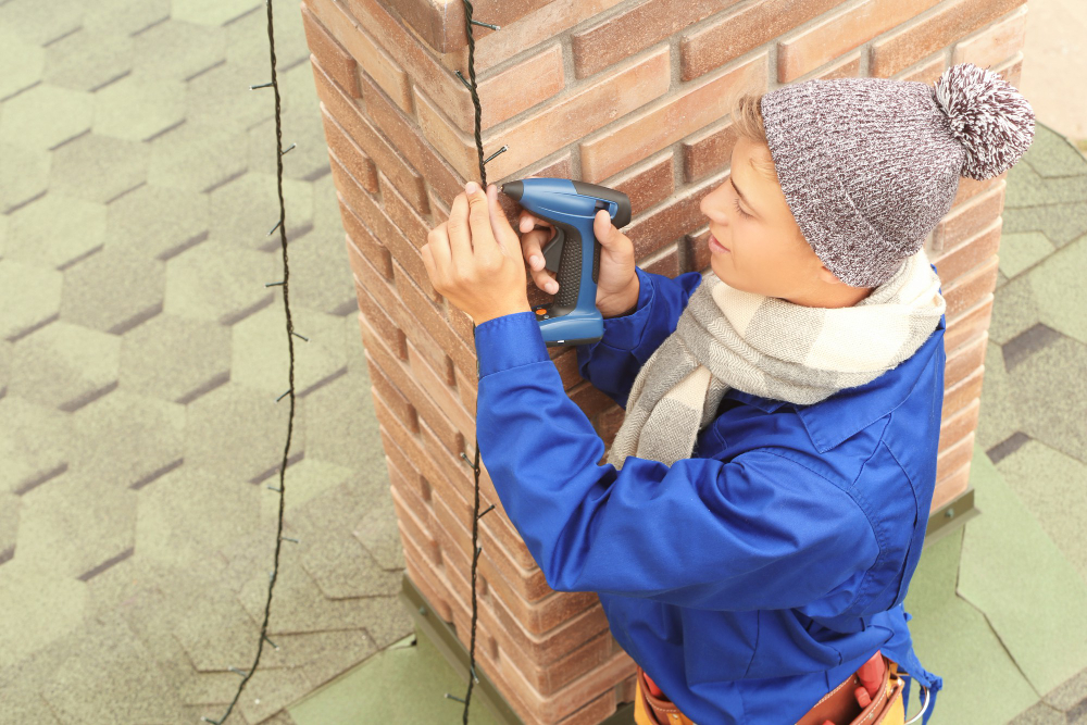
M 555 591 L 784 609 L 875 562 L 853 499 L 787 452 L 598 465 L 603 441 L 566 396 L 530 312 L 483 323 L 476 347 L 483 463 Z

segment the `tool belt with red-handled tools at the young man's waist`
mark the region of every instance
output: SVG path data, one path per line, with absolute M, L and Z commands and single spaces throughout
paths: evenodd
M 823 696 L 797 721 L 797 725 L 903 725 L 905 703 L 902 688 L 905 680 L 902 676 L 905 675 L 899 673 L 896 662 L 876 652 L 848 679 Z M 646 671 L 640 665 L 636 682 L 636 725 L 697 725 L 663 693 L 652 693 Z M 657 689 L 655 685 L 653 689 Z M 875 692 L 874 697 L 872 691 Z M 925 705 L 927 704 L 926 701 Z M 921 713 L 911 722 L 915 722 L 920 715 Z

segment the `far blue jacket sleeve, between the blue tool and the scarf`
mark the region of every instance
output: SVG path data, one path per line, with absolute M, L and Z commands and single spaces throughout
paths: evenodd
M 605 318 L 603 337 L 576 348 L 580 376 L 624 410 L 641 365 L 675 332 L 688 299 L 702 282 L 700 272 L 672 278 L 637 266 L 635 271 L 639 277 L 637 310 Z

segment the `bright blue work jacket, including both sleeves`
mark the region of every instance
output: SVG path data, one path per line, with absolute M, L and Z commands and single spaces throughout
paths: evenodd
M 577 347 L 582 376 L 624 409 L 702 282 L 637 274 L 636 311 Z M 945 328 L 812 405 L 732 389 L 691 458 L 616 471 L 535 314 L 503 315 L 475 328 L 480 455 L 548 585 L 597 592 L 698 725 L 794 725 L 876 650 L 929 688 L 927 723 L 942 679 L 917 661 L 902 600 L 936 484 Z

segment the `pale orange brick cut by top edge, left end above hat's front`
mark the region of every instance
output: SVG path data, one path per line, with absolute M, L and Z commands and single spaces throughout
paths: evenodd
M 851 4 L 777 43 L 777 82 L 791 83 L 877 35 L 910 21 L 940 0 L 867 0 Z M 814 14 L 812 15 L 814 17 Z

